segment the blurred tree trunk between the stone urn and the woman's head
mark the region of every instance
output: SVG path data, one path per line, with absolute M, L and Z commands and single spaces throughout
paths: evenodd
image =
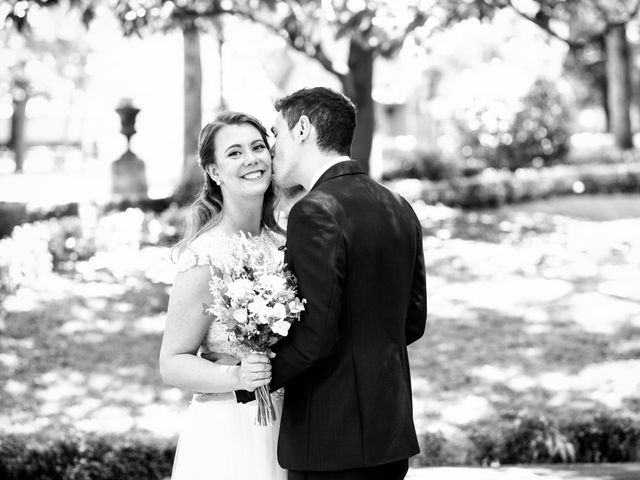
M 202 172 L 197 164 L 198 135 L 202 125 L 202 63 L 197 27 L 182 27 L 184 55 L 184 147 L 182 178 L 176 200 L 184 204 L 197 194 L 202 185 Z

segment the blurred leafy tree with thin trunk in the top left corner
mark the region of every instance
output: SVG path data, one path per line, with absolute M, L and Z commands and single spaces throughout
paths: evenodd
M 59 18 L 47 19 L 53 29 L 47 34 L 32 31 L 26 21 L 31 5 L 10 2 L 0 30 L 0 93 L 8 92 L 12 99 L 11 130 L 7 146 L 14 155 L 15 171 L 22 172 L 27 148 L 27 105 L 37 96 L 48 98 L 61 84 L 71 82 L 81 88 L 84 82 L 87 48 L 78 41 L 80 31 L 69 31 Z M 50 25 L 50 26 L 51 26 Z

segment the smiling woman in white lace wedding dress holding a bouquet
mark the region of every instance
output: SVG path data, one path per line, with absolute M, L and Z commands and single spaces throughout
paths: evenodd
M 276 422 L 254 425 L 256 403 L 236 402 L 271 379 L 269 359 L 229 338 L 203 313 L 211 303 L 211 266 L 229 260 L 241 232 L 277 264 L 284 244 L 274 218 L 267 132 L 255 118 L 224 112 L 200 132 L 204 186 L 191 205 L 160 349 L 160 373 L 170 385 L 196 392 L 185 414 L 172 480 L 284 480 L 276 459 L 282 393 L 274 392 Z M 210 362 L 212 354 L 218 360 Z

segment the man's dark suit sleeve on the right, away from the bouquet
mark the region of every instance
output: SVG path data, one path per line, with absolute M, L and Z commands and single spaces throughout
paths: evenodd
M 424 334 L 427 322 L 427 281 L 422 245 L 422 227 L 416 218 L 416 260 L 413 267 L 411 299 L 405 320 L 405 338 L 407 345 L 418 340 Z

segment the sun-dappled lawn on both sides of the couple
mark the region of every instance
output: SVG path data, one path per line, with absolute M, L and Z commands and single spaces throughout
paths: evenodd
M 462 213 L 417 204 L 429 318 L 410 348 L 418 430 L 640 407 L 640 197 Z M 0 431 L 173 437 L 189 394 L 157 356 L 167 248 L 100 252 L 23 288 L 0 332 Z

